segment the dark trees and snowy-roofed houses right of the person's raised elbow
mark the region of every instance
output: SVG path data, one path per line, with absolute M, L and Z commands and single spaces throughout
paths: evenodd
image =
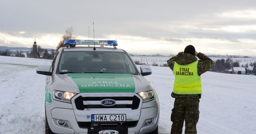
M 233 62 L 231 58 L 228 59 L 218 59 L 214 62 L 214 66 L 212 67 L 212 71 L 215 72 L 228 72 L 232 69 L 232 67 L 245 67 L 248 73 L 256 73 L 256 62 L 254 63 L 246 63 L 245 65 L 240 66 L 238 61 Z M 251 66 L 252 70 L 249 70 L 248 67 Z

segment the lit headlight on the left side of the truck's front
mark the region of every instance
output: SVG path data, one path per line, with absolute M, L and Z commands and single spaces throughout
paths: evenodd
M 60 100 L 60 101 L 70 103 L 71 102 L 70 100 L 75 95 L 76 95 L 76 93 L 73 93 L 73 92 L 62 92 L 62 91 L 53 90 L 53 99 L 54 100 Z

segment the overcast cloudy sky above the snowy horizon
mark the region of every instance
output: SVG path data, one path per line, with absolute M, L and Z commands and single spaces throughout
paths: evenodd
M 256 55 L 256 0 L 0 0 L 0 46 L 117 40 L 128 53 Z

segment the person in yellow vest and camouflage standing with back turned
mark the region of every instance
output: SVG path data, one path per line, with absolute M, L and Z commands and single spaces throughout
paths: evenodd
M 197 60 L 197 56 L 200 60 Z M 185 134 L 196 134 L 196 124 L 199 119 L 199 99 L 201 98 L 201 77 L 210 70 L 213 61 L 202 53 L 197 53 L 194 46 L 186 46 L 184 53 L 180 52 L 168 60 L 168 66 L 175 76 L 172 97 L 175 98 L 172 109 L 171 134 L 181 134 L 185 120 Z

